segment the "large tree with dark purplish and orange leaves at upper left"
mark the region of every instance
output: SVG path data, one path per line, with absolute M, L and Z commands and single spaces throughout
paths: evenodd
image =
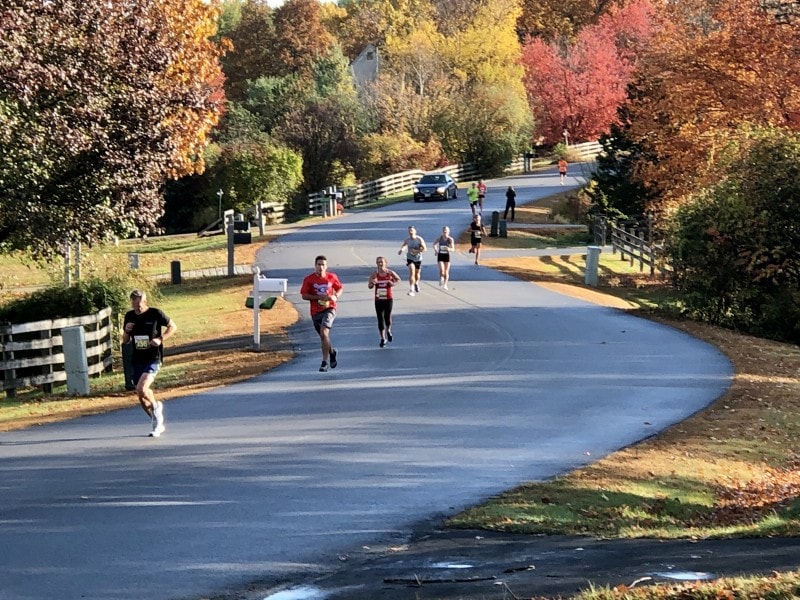
M 222 109 L 216 19 L 202 0 L 4 4 L 0 248 L 155 230 Z

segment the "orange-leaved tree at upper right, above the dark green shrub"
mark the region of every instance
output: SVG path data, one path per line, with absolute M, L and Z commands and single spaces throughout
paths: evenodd
M 800 27 L 760 0 L 675 3 L 640 63 L 632 140 L 650 158 L 634 177 L 662 190 L 657 212 L 716 181 L 713 166 L 744 123 L 800 128 Z

